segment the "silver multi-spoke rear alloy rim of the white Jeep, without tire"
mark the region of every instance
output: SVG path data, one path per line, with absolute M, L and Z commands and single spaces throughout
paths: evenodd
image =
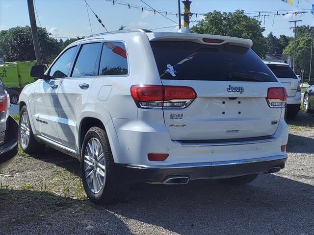
M 106 167 L 103 147 L 96 138 L 91 138 L 85 147 L 84 172 L 88 188 L 99 193 L 105 184 Z

